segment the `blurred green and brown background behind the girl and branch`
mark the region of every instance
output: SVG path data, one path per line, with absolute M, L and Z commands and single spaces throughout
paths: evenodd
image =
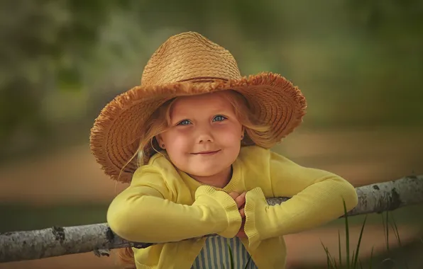
M 231 51 L 243 75 L 273 71 L 300 86 L 308 113 L 275 151 L 356 186 L 423 174 L 423 1 L 3 0 L 0 232 L 106 221 L 126 185 L 89 152 L 94 118 L 139 84 L 162 42 L 189 30 Z M 363 265 L 373 248 L 374 265 L 423 268 L 423 206 L 392 216 L 401 244 L 390 231 L 388 250 L 383 215 L 370 214 Z M 363 217 L 350 222 L 353 249 Z M 321 241 L 337 256 L 343 224 L 287 236 L 289 268 L 325 268 Z M 0 268 L 115 263 L 84 253 Z

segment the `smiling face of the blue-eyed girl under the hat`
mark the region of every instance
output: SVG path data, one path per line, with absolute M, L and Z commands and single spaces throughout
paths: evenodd
M 227 176 L 241 149 L 243 127 L 223 94 L 177 98 L 170 128 L 156 137 L 172 163 L 196 179 Z

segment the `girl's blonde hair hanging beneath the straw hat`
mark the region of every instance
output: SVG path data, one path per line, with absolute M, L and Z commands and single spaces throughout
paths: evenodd
M 270 142 L 270 126 L 261 125 L 256 115 L 253 114 L 253 111 L 248 107 L 248 102 L 241 93 L 236 91 L 220 91 L 226 100 L 233 105 L 235 109 L 235 115 L 238 121 L 241 123 L 245 130 L 245 137 L 243 139 L 243 144 L 252 144 L 251 142 L 261 146 L 261 147 L 271 147 L 273 144 Z M 170 112 L 172 111 L 172 105 L 175 103 L 177 98 L 173 98 L 160 106 L 157 110 L 154 111 L 148 120 L 148 125 L 145 126 L 145 132 L 140 137 L 140 143 L 138 151 L 132 156 L 128 161 L 128 164 L 138 156 L 137 164 L 138 166 L 143 166 L 148 162 L 150 156 L 153 155 L 153 152 L 149 152 L 150 144 L 153 151 L 160 153 L 157 149 L 160 148 L 157 140 L 155 139 L 156 135 L 160 135 L 165 132 L 168 127 L 170 127 Z M 123 168 L 122 168 L 123 170 Z M 133 256 L 132 248 L 120 248 L 118 250 L 118 256 L 121 260 L 123 268 L 135 269 L 135 261 Z

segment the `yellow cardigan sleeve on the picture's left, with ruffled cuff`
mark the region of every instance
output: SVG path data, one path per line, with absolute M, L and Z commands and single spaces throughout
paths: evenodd
M 181 241 L 205 234 L 234 237 L 240 229 L 241 215 L 227 193 L 200 186 L 192 205 L 172 202 L 172 193 L 158 168 L 138 168 L 131 185 L 109 205 L 109 227 L 123 239 L 144 243 Z

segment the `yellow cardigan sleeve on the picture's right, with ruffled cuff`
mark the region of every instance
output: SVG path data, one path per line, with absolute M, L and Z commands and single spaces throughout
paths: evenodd
M 353 185 L 327 171 L 306 168 L 274 152 L 270 153 L 270 182 L 274 197 L 290 197 L 270 206 L 260 188 L 246 193 L 245 232 L 251 248 L 260 241 L 293 234 L 341 217 L 356 207 Z

